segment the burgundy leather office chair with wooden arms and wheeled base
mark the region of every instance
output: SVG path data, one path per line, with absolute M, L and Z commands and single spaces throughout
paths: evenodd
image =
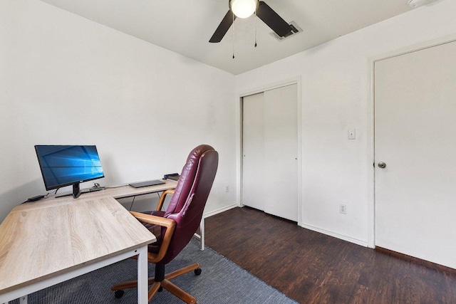
M 187 246 L 197 231 L 207 196 L 214 182 L 218 162 L 219 154 L 214 148 L 209 145 L 199 145 L 187 157 L 187 163 L 182 169 L 166 211 L 160 211 L 160 209 L 164 197 L 170 192 L 162 194 L 157 211 L 147 213 L 131 211 L 157 236 L 157 242 L 149 245 L 147 253 L 149 263 L 155 263 L 155 277 L 149 278 L 149 284 L 152 285 L 148 294 L 149 301 L 157 290 L 165 288 L 185 303 L 196 303 L 194 296 L 169 280 L 190 271 L 195 271 L 195 274 L 199 275 L 201 273 L 199 264 L 194 263 L 166 275 L 165 265 Z M 123 289 L 136 286 L 136 281 L 129 281 L 116 284 L 111 289 L 115 291 L 115 297 L 120 298 L 123 295 Z

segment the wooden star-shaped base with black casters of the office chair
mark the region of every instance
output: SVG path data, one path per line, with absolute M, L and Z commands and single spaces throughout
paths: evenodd
M 155 265 L 155 267 L 158 266 L 160 265 Z M 163 265 L 162 267 L 164 270 L 165 266 Z M 184 301 L 185 303 L 197 303 L 197 299 L 193 295 L 190 295 L 190 293 L 187 293 L 185 290 L 182 290 L 181 288 L 177 287 L 177 285 L 170 282 L 172 278 L 176 278 L 177 276 L 181 276 L 182 274 L 189 273 L 190 271 L 195 271 L 195 275 L 199 276 L 199 274 L 201 274 L 199 263 L 194 263 L 185 268 L 173 271 L 172 273 L 167 273 L 161 281 L 155 281 L 155 278 L 149 278 L 148 283 L 151 286 L 148 292 L 148 301 L 150 302 L 155 293 L 157 293 L 160 287 L 162 287 L 168 290 L 173 295 L 175 295 L 177 298 L 180 298 L 180 300 Z M 157 269 L 155 270 L 155 272 L 157 273 Z M 120 290 L 124 290 L 126 288 L 133 288 L 137 286 L 138 281 L 128 281 L 113 285 L 111 290 L 115 291 L 116 298 L 120 298 L 123 295 L 123 293 L 119 293 Z

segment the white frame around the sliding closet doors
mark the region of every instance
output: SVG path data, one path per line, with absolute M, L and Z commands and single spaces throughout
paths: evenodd
M 237 201 L 239 202 L 239 206 L 244 206 L 242 204 L 242 118 L 243 118 L 243 113 L 242 113 L 242 103 L 243 103 L 243 98 L 248 95 L 254 95 L 257 93 L 261 93 L 267 90 L 274 90 L 276 88 L 281 88 L 285 87 L 286 85 L 294 85 L 296 84 L 296 90 L 297 90 L 297 100 L 296 100 L 296 106 L 297 106 L 297 149 L 298 149 L 298 180 L 297 182 L 297 190 L 298 190 L 298 225 L 301 226 L 302 223 L 302 212 L 301 212 L 301 201 L 302 201 L 302 161 L 301 161 L 301 77 L 296 77 L 296 78 L 290 78 L 287 80 L 283 80 L 277 83 L 272 83 L 269 85 L 264 85 L 259 88 L 254 88 L 252 90 L 246 90 L 242 93 L 240 93 L 237 98 Z

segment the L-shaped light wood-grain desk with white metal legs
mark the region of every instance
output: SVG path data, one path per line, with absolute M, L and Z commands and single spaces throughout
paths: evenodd
M 138 255 L 138 303 L 147 303 L 147 244 L 156 241 L 116 198 L 161 192 L 130 186 L 16 206 L 0 225 L 0 303 Z

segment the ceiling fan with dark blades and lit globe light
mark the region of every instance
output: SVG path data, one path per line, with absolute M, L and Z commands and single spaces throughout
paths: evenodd
M 293 28 L 286 23 L 269 5 L 264 1 L 258 0 L 229 0 L 229 11 L 220 22 L 209 42 L 217 43 L 222 41 L 223 36 L 232 26 L 234 19 L 247 18 L 256 15 L 261 19 L 272 31 L 280 37 L 286 37 L 293 34 Z

